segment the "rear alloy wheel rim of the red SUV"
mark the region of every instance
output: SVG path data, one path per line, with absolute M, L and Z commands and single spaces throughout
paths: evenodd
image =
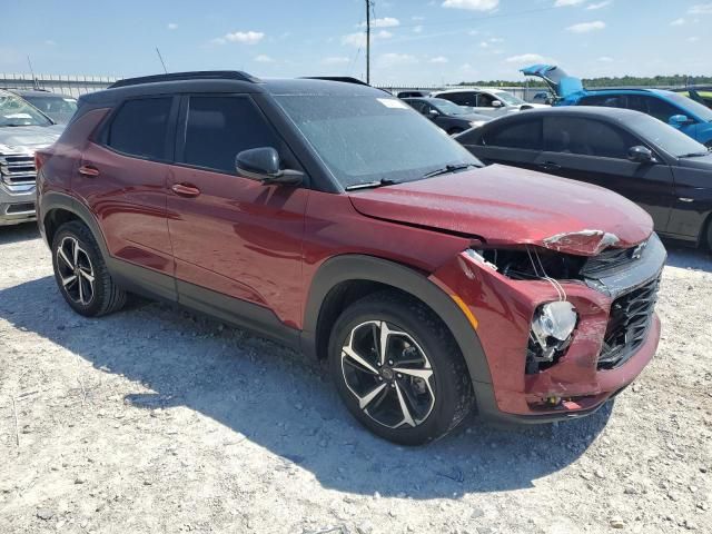
M 88 306 L 95 295 L 93 266 L 75 237 L 65 237 L 57 247 L 57 270 L 69 298 Z

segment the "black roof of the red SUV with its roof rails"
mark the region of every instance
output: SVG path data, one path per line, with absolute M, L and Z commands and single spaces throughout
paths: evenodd
M 379 89 L 365 83 L 355 83 L 352 80 L 312 78 L 263 80 L 241 71 L 215 70 L 129 78 L 117 81 L 103 91 L 91 92 L 80 98 L 83 102 L 110 105 L 127 97 L 180 92 L 383 96 Z

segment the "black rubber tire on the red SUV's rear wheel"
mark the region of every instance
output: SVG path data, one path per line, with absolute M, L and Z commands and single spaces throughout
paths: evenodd
M 79 246 L 78 256 L 69 254 L 73 251 L 71 246 L 75 243 Z M 68 258 L 69 263 L 62 259 L 60 247 L 65 258 L 72 256 Z M 75 261 L 76 257 L 78 257 L 77 261 Z M 76 264 L 73 270 L 70 263 Z M 52 239 L 52 267 L 55 280 L 62 297 L 78 314 L 99 317 L 117 312 L 126 304 L 126 291 L 117 287 L 111 279 L 97 241 L 82 222 L 72 220 L 59 227 Z M 90 281 L 87 275 L 93 280 Z M 62 279 L 67 280 L 72 276 L 76 278 L 73 283 L 62 283 Z

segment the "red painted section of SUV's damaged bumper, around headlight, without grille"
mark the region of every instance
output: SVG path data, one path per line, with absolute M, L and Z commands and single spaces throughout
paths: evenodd
M 562 283 L 566 299 L 580 315 L 573 342 L 556 365 L 526 375 L 530 325 L 541 304 L 558 300 L 554 286 L 543 280 L 511 280 L 465 254 L 435 271 L 431 279 L 447 293 L 458 295 L 477 319 L 497 407 L 504 413 L 555 413 L 553 408 L 532 408 L 552 396 L 590 397 L 577 404 L 580 409 L 591 408 L 630 384 L 657 348 L 660 322 L 654 317 L 646 342 L 627 363 L 616 369 L 597 370 L 612 300 L 583 283 Z

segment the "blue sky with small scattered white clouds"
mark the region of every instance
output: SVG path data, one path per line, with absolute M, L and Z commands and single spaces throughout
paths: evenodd
M 365 73 L 365 0 L 6 0 L 0 72 L 137 76 L 244 69 Z M 3 2 L 4 3 L 4 2 Z M 577 76 L 712 75 L 710 0 L 375 0 L 375 83 L 521 79 L 553 61 Z

